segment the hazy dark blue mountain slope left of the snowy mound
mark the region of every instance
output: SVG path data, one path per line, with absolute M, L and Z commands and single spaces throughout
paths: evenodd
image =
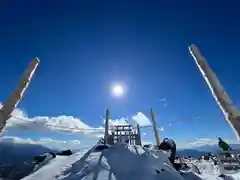
M 0 142 L 0 179 L 21 179 L 29 175 L 36 155 L 53 150 L 36 144 Z

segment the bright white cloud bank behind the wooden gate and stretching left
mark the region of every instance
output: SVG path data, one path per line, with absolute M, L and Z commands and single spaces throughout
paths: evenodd
M 1 108 L 1 106 L 0 106 Z M 119 119 L 110 119 L 109 120 L 110 129 L 114 125 L 123 125 L 123 124 L 139 124 L 140 126 L 151 125 L 150 120 L 141 112 L 138 112 L 129 119 L 119 118 Z M 16 108 L 12 117 L 8 120 L 6 128 L 18 127 L 28 130 L 48 130 L 55 132 L 70 132 L 70 133 L 83 133 L 86 135 L 93 136 L 102 136 L 104 133 L 103 127 L 91 127 L 81 121 L 79 118 L 73 116 L 61 115 L 57 117 L 48 117 L 48 116 L 35 116 L 28 117 L 27 114 Z

